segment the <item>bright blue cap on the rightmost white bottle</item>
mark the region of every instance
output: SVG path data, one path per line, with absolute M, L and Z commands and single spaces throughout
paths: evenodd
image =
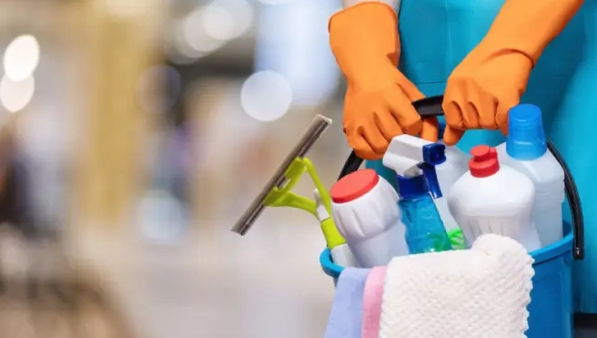
M 506 152 L 512 159 L 539 159 L 547 151 L 541 109 L 521 104 L 508 113 Z

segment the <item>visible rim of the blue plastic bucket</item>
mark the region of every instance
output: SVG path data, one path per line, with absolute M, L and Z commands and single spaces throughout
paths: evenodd
M 551 245 L 531 252 L 531 257 L 535 261 L 532 264 L 533 266 L 539 265 L 545 261 L 550 261 L 553 258 L 560 257 L 566 252 L 570 252 L 572 255 L 572 239 L 574 238 L 572 227 L 570 224 L 564 222 L 563 230 L 564 233 L 567 233 L 567 235 L 562 238 L 562 240 L 556 241 Z M 329 252 L 328 248 L 326 248 L 324 251 L 321 251 L 321 254 L 319 255 L 319 264 L 321 264 L 321 270 L 323 270 L 323 272 L 329 277 L 334 279 L 337 279 L 340 273 L 344 270 L 343 267 L 337 265 L 331 260 L 331 253 Z

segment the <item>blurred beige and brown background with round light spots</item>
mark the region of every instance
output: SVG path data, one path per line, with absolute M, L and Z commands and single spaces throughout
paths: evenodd
M 317 220 L 230 229 L 318 113 L 339 173 L 339 6 L 0 1 L 0 337 L 322 336 Z

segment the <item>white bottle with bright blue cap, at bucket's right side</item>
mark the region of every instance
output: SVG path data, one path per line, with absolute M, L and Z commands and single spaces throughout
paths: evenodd
M 509 135 L 498 146 L 501 163 L 520 171 L 535 186 L 532 219 L 543 246 L 562 240 L 564 170 L 547 149 L 541 109 L 533 105 L 511 108 Z

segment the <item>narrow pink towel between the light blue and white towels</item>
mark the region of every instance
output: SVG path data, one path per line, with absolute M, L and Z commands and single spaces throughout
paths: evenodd
M 378 338 L 383 282 L 385 279 L 386 267 L 379 266 L 371 269 L 367 282 L 365 282 L 362 338 Z

